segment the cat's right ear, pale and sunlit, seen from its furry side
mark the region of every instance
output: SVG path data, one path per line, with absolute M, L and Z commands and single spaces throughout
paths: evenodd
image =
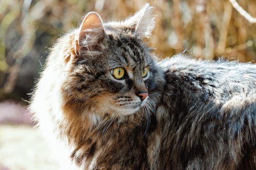
M 124 23 L 135 26 L 135 34 L 148 38 L 151 36 L 151 32 L 155 27 L 154 19 L 153 7 L 147 3 L 132 17 L 126 19 Z

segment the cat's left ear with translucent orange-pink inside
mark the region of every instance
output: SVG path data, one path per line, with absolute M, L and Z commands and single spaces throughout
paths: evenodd
M 96 45 L 105 36 L 105 30 L 102 20 L 96 12 L 88 13 L 79 28 L 79 32 L 75 37 L 75 53 L 79 55 L 82 47 L 88 50 Z

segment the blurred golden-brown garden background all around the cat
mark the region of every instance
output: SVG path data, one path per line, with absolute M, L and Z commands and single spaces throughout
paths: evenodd
M 57 38 L 77 28 L 87 12 L 98 12 L 105 22 L 122 20 L 146 2 L 156 15 L 148 41 L 160 58 L 184 52 L 198 59 L 256 61 L 256 24 L 228 0 L 0 1 L 0 170 L 58 169 L 26 111 Z M 255 0 L 237 2 L 256 16 Z

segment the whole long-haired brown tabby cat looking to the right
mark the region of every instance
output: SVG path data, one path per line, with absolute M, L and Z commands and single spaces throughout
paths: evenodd
M 256 66 L 158 61 L 153 28 L 90 12 L 52 48 L 30 110 L 61 169 L 253 169 Z

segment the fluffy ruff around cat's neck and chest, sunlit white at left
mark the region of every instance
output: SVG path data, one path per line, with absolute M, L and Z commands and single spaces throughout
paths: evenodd
M 105 28 L 106 32 L 117 34 L 116 23 L 108 23 Z M 152 63 L 158 83 L 149 91 L 147 102 L 154 106 L 141 108 L 131 115 L 113 117 L 108 106 L 104 106 L 105 100 L 109 100 L 108 94 L 103 92 L 100 98 L 91 95 L 94 89 L 80 87 L 80 79 L 74 76 L 74 69 L 79 75 L 84 75 L 79 71 L 87 70 L 90 80 L 90 74 L 95 74 L 93 68 L 89 65 L 77 67 L 77 63 L 88 62 L 102 54 L 91 50 L 82 53 L 89 56 L 88 59 L 77 58 L 74 39 L 78 31 L 61 37 L 48 57 L 30 106 L 36 113 L 38 126 L 46 138 L 51 139 L 53 150 L 59 152 L 56 154 L 60 162 L 67 162 L 64 169 L 148 169 L 144 134 L 150 128 L 150 112 L 154 112 L 161 98 L 162 71 Z M 101 50 L 106 48 L 99 46 Z M 77 90 L 80 88 L 82 91 Z

